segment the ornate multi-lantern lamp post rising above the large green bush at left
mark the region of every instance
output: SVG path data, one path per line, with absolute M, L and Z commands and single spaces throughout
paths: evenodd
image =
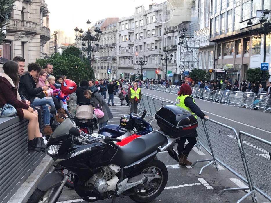
M 87 20 L 87 24 L 90 24 L 91 22 L 89 20 Z M 82 29 L 78 29 L 77 27 L 74 29 L 74 32 L 75 32 L 75 40 L 76 41 L 83 41 L 83 42 L 87 42 L 87 59 L 90 63 L 90 52 L 91 52 L 91 49 L 92 49 L 92 46 L 91 46 L 91 43 L 94 41 L 94 43 L 97 41 L 100 41 L 101 39 L 101 36 L 102 36 L 102 31 L 100 28 L 96 28 L 94 30 L 95 34 L 92 35 L 92 33 L 89 31 L 89 29 L 87 30 L 87 32 L 84 33 L 84 31 Z M 80 33 L 80 34 L 79 34 Z M 84 34 L 82 34 L 84 33 Z M 96 47 L 98 43 L 95 44 Z

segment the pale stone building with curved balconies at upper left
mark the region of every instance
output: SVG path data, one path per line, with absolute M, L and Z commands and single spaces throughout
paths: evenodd
M 22 56 L 26 64 L 42 58 L 44 45 L 50 40 L 47 4 L 44 0 L 17 0 L 2 44 L 3 57 Z

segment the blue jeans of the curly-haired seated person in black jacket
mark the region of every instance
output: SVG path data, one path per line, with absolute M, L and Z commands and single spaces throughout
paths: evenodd
M 41 106 L 43 111 L 43 122 L 45 126 L 50 125 L 50 110 L 49 106 L 55 106 L 52 97 L 44 97 L 42 99 L 36 97 L 32 102 L 34 106 Z

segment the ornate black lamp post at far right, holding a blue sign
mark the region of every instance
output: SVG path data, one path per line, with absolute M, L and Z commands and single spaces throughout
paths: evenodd
M 270 23 L 271 18 L 268 19 L 270 10 L 265 9 L 261 12 L 262 12 L 262 16 L 260 17 L 260 23 L 261 23 L 260 28 L 251 31 L 252 24 L 253 24 L 251 19 L 247 22 L 247 28 L 251 34 L 263 35 L 263 63 L 265 63 L 266 62 L 266 36 L 271 33 L 271 23 Z M 266 86 L 266 71 L 265 70 L 263 71 L 261 84 L 263 88 L 265 88 Z

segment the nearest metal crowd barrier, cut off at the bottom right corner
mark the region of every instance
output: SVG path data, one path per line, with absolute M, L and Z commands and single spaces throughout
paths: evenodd
M 271 142 L 242 131 L 239 139 L 253 189 L 250 193 L 257 191 L 271 201 Z

